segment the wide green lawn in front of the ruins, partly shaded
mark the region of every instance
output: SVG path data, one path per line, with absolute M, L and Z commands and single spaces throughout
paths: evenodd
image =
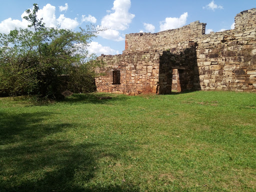
M 0 98 L 0 191 L 255 191 L 256 94 Z

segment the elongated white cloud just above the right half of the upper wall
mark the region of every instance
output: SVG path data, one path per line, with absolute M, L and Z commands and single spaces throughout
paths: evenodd
M 181 27 L 186 23 L 186 18 L 187 18 L 187 12 L 184 12 L 183 14 L 181 14 L 179 18 L 166 17 L 165 21 L 160 22 L 160 31 Z

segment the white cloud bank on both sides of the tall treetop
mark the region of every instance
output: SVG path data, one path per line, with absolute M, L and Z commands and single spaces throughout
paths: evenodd
M 1 33 L 8 33 L 10 30 L 16 28 L 26 28 L 29 24 L 23 16 L 27 15 L 25 11 L 21 14 L 21 20 L 7 18 L 0 22 L 0 32 Z M 60 14 L 58 18 L 55 15 L 55 6 L 51 4 L 46 4 L 43 6 L 42 9 L 37 11 L 37 17 L 43 18 L 43 22 L 45 23 L 46 27 L 56 27 L 60 25 L 60 28 L 67 28 L 67 29 L 74 29 L 76 26 L 79 25 L 76 18 L 71 19 L 64 16 L 64 14 Z

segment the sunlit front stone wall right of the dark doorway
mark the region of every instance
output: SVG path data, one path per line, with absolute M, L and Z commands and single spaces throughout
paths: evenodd
M 200 89 L 256 91 L 256 28 L 216 32 L 198 39 Z

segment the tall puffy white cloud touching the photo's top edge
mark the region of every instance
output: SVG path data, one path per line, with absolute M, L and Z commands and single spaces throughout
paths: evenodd
M 129 13 L 130 0 L 115 0 L 113 2 L 112 13 L 105 15 L 101 20 L 101 25 L 113 30 L 125 30 L 134 14 Z

